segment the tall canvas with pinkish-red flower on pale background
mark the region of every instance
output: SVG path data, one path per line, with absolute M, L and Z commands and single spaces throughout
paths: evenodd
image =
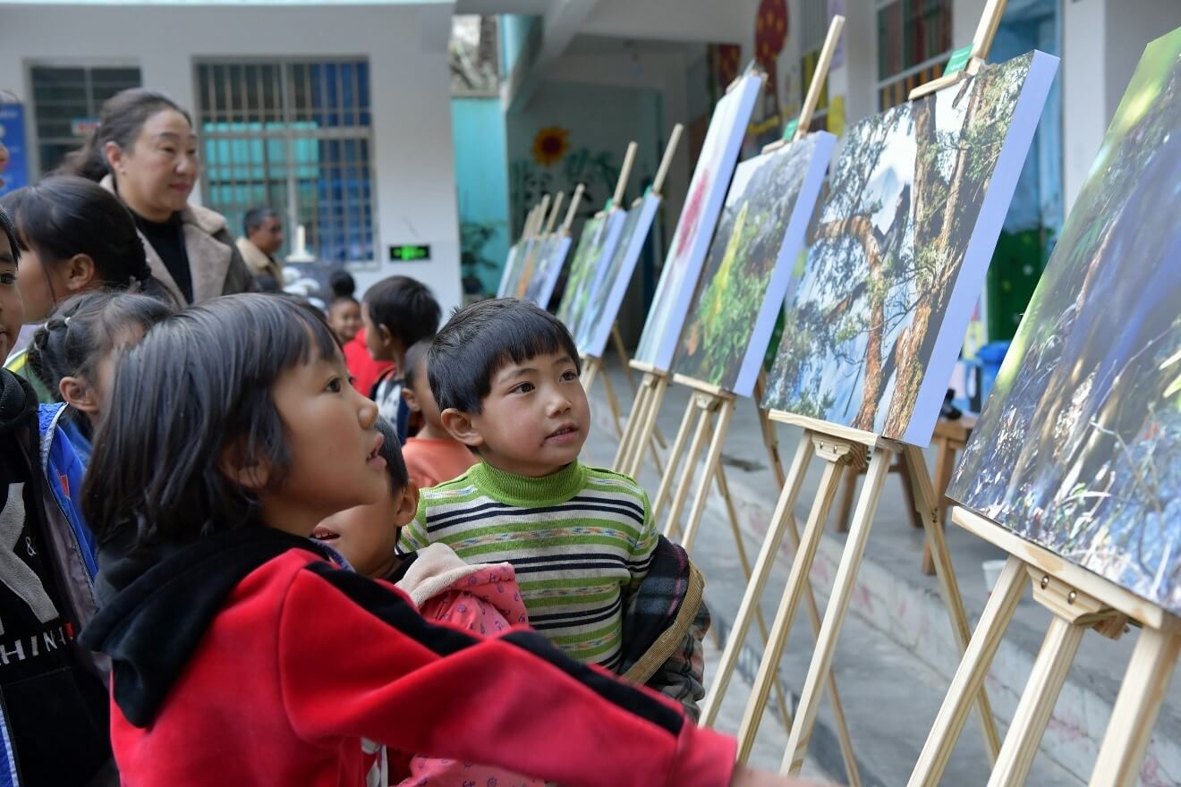
M 746 124 L 762 87 L 763 77 L 748 73 L 735 83 L 713 109 L 710 130 L 705 133 L 702 155 L 689 184 L 685 208 L 677 222 L 677 232 L 660 271 L 657 293 L 640 335 L 640 346 L 635 350 L 638 361 L 661 372 L 667 370 L 672 363 L 680 328 L 685 323 L 685 313 L 689 311 L 690 300 L 697 288 L 697 278 L 722 212 L 722 202 L 738 160 Z

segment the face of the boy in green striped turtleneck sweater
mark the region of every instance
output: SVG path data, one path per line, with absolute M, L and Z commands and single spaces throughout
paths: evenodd
M 498 369 L 482 406 L 478 415 L 446 409 L 443 424 L 484 461 L 518 476 L 548 476 L 578 459 L 590 426 L 586 391 L 565 352 Z

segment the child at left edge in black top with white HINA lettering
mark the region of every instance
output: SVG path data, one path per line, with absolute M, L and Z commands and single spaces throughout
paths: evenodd
M 0 208 L 0 353 L 20 328 L 19 256 Z M 74 642 L 94 608 L 84 529 L 43 494 L 77 459 L 64 439 L 44 454 L 37 413 L 28 382 L 0 370 L 0 783 L 113 785 L 103 669 Z

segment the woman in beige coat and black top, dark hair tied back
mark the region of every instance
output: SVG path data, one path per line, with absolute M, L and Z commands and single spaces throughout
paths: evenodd
M 188 112 L 164 93 L 136 87 L 103 105 L 91 139 L 63 166 L 99 181 L 131 209 L 152 275 L 181 303 L 252 289 L 226 218 L 189 204 L 197 151 Z

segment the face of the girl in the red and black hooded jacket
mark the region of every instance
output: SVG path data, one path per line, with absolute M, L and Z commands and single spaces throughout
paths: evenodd
M 378 453 L 377 405 L 348 385 L 339 349 L 280 374 L 270 399 L 287 433 L 287 476 L 270 487 L 268 468 L 235 468 L 243 484 L 259 488 L 263 522 L 308 537 L 327 517 L 383 499 L 390 478 Z

